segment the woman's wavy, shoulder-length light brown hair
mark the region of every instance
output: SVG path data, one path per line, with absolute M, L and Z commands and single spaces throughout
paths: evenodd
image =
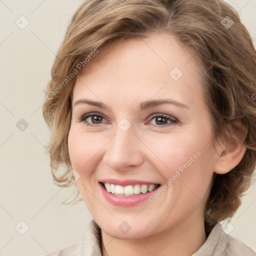
M 208 232 L 217 221 L 233 216 L 256 163 L 256 52 L 238 13 L 222 0 L 87 0 L 80 5 L 44 90 L 42 109 L 51 129 L 47 149 L 53 180 L 59 186 L 74 183 L 67 138 L 75 74 L 79 75 L 81 64 L 86 69 L 86 63 L 94 61 L 85 57 L 94 56 L 110 42 L 156 33 L 175 36 L 203 68 L 204 100 L 212 118 L 214 141 L 229 132 L 246 148 L 232 170 L 213 175 L 204 212 Z M 65 167 L 61 174 L 60 165 Z

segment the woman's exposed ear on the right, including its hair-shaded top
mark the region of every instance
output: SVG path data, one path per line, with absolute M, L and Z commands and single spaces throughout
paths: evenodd
M 228 125 L 228 128 L 228 131 L 225 132 L 226 138 L 216 142 L 215 149 L 218 156 L 215 161 L 214 172 L 217 174 L 224 174 L 233 169 L 241 161 L 246 151 L 244 144 L 242 144 L 244 138 L 239 141 L 232 135 L 232 132 L 243 132 L 244 127 L 236 122 Z

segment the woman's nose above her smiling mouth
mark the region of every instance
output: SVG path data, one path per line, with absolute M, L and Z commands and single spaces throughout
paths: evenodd
M 139 166 L 143 162 L 142 143 L 133 133 L 117 127 L 113 138 L 105 146 L 103 162 L 113 170 L 126 171 L 131 166 Z

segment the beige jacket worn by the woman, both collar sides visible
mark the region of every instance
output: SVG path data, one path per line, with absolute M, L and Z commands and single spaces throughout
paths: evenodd
M 205 243 L 191 256 L 256 256 L 251 248 L 226 234 L 217 223 Z M 76 244 L 50 253 L 51 256 L 102 256 L 100 228 L 91 220 L 82 238 Z M 48 256 L 46 254 L 44 256 Z

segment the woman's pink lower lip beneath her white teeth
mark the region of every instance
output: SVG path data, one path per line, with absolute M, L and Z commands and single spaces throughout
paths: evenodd
M 101 187 L 101 190 L 105 199 L 110 203 L 118 206 L 133 206 L 133 205 L 139 204 L 140 202 L 148 199 L 148 197 L 150 197 L 152 194 L 154 194 L 158 190 L 156 188 L 153 191 L 147 192 L 145 194 L 141 193 L 141 194 L 136 194 L 131 196 L 118 196 L 118 195 L 108 193 L 100 183 L 99 183 L 99 186 Z

